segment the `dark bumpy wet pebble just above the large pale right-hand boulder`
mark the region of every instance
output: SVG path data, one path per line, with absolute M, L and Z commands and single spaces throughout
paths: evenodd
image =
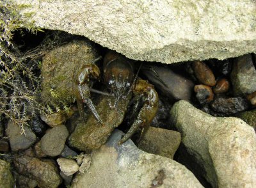
M 235 114 L 248 108 L 248 103 L 242 97 L 216 98 L 211 108 L 218 113 Z

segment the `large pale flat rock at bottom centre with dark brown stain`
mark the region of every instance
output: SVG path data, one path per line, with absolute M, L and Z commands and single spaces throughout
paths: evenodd
M 178 162 L 138 150 L 131 140 L 118 145 L 115 130 L 106 145 L 92 155 L 87 172 L 74 178 L 72 187 L 202 187 Z

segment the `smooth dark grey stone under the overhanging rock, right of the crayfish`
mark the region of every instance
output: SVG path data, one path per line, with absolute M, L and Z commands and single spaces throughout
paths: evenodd
M 141 72 L 166 97 L 173 100 L 190 100 L 194 86 L 193 82 L 176 74 L 170 68 L 147 65 L 141 68 Z

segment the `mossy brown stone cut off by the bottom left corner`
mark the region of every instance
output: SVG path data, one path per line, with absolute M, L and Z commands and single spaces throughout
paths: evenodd
M 0 159 L 0 187 L 10 188 L 14 186 L 14 180 L 10 171 L 10 164 Z

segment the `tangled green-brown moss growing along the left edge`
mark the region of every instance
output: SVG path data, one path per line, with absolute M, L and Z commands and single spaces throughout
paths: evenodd
M 32 33 L 42 31 L 20 20 L 19 11 L 26 7 L 13 1 L 0 2 L 0 120 L 14 121 L 20 125 L 21 132 L 39 108 L 36 100 L 40 81 L 36 75 L 39 54 L 20 51 L 12 40 L 14 31 L 19 30 L 22 35 L 21 26 Z

